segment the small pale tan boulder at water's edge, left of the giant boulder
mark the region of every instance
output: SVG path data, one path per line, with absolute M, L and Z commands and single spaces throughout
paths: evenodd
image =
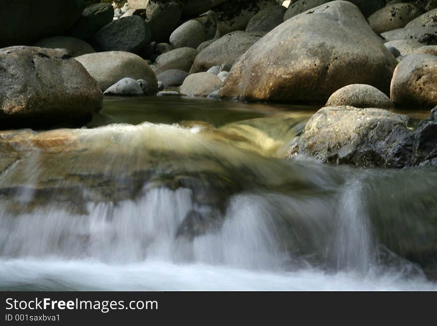
M 198 72 L 185 78 L 180 92 L 181 95 L 208 96 L 209 93 L 222 85 L 220 78 L 209 72 Z

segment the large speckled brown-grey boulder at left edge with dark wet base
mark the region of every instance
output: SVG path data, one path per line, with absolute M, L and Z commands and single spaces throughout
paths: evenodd
M 81 123 L 101 110 L 96 81 L 61 49 L 16 46 L 0 50 L 0 126 Z

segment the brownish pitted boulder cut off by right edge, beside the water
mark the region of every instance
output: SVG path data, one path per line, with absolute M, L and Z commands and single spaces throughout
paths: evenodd
M 396 106 L 436 106 L 437 57 L 411 54 L 402 59 L 393 73 L 390 98 Z

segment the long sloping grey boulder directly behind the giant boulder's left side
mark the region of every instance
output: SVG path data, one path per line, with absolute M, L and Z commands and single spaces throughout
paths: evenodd
M 226 34 L 203 49 L 190 72 L 207 71 L 215 65 L 232 66 L 264 33 L 235 31 Z

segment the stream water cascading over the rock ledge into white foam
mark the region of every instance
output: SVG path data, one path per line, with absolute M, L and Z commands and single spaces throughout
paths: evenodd
M 437 290 L 437 170 L 285 159 L 316 109 L 114 98 L 0 132 L 0 290 Z

